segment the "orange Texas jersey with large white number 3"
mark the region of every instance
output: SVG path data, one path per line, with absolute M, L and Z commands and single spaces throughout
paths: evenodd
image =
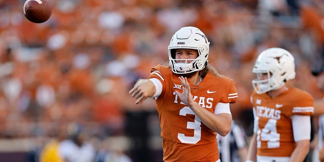
M 182 93 L 179 75 L 169 66 L 157 65 L 149 78 L 163 85 L 155 100 L 163 138 L 164 161 L 216 161 L 219 159 L 216 132 L 209 129 L 174 91 Z M 217 103 L 235 103 L 237 92 L 232 79 L 208 73 L 198 85 L 190 85 L 194 101 L 215 112 Z

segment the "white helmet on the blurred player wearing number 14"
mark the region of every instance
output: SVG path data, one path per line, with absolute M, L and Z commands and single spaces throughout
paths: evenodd
M 295 78 L 295 59 L 287 50 L 270 48 L 260 53 L 252 72 L 258 76 L 252 80 L 253 88 L 258 94 L 277 90 L 284 86 L 287 80 Z M 268 77 L 260 78 L 262 73 Z

